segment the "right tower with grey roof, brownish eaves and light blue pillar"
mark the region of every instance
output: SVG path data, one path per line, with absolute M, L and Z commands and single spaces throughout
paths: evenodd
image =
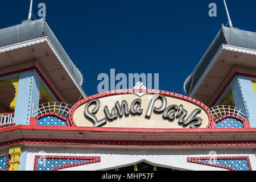
M 222 25 L 184 91 L 212 107 L 215 118 L 234 114 L 256 127 L 256 33 Z

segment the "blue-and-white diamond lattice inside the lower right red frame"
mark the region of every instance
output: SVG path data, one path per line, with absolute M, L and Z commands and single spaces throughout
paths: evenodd
M 211 160 L 200 160 L 202 162 L 218 164 L 223 166 L 228 166 L 236 169 L 236 171 L 249 171 L 249 166 L 246 159 L 211 159 Z

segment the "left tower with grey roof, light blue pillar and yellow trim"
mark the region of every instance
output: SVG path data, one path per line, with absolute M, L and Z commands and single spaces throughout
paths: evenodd
M 4 28 L 0 39 L 0 125 L 28 125 L 45 102 L 85 97 L 80 71 L 45 19 Z

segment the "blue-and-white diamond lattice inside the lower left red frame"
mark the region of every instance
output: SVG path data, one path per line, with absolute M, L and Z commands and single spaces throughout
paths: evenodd
M 38 159 L 36 166 L 37 171 L 52 171 L 52 169 L 65 166 L 68 164 L 75 164 L 88 161 L 88 159 Z

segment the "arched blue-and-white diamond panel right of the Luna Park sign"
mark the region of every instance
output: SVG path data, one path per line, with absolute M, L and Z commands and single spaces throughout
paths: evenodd
M 243 128 L 243 122 L 238 121 L 237 119 L 234 119 L 234 118 L 225 118 L 222 121 L 217 122 L 215 125 L 215 128 L 239 129 L 239 128 Z

